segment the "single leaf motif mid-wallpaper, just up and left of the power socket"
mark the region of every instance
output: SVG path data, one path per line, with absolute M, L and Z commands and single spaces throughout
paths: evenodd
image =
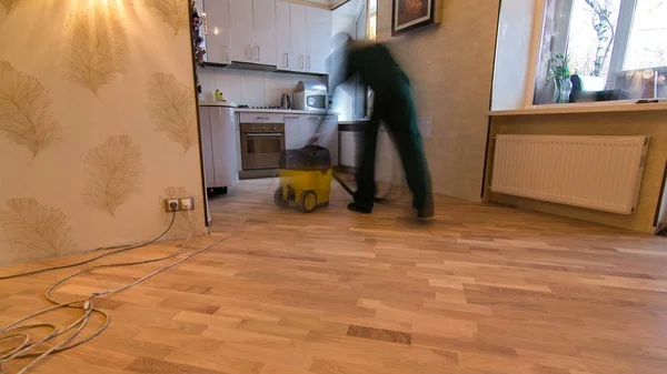
M 109 138 L 88 152 L 86 204 L 116 216 L 116 210 L 139 191 L 141 148 L 130 137 Z

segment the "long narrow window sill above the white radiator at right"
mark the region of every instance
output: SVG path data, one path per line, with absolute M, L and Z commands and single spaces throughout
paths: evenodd
M 535 115 L 535 114 L 574 114 L 574 113 L 607 113 L 607 112 L 645 112 L 667 110 L 667 102 L 638 104 L 635 100 L 596 103 L 547 104 L 532 105 L 524 109 L 492 110 L 490 117 L 502 115 Z

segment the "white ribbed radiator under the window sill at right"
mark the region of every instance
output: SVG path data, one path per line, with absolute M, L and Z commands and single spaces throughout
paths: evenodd
M 631 214 L 647 149 L 646 137 L 497 135 L 491 191 Z

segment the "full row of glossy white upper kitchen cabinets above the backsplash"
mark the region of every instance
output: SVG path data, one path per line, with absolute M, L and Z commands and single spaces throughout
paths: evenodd
M 287 0 L 203 0 L 208 63 L 327 74 L 332 13 Z

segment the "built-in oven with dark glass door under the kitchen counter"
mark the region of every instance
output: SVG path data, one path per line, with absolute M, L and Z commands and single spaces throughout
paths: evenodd
M 272 176 L 285 150 L 285 123 L 241 122 L 240 135 L 240 176 Z

